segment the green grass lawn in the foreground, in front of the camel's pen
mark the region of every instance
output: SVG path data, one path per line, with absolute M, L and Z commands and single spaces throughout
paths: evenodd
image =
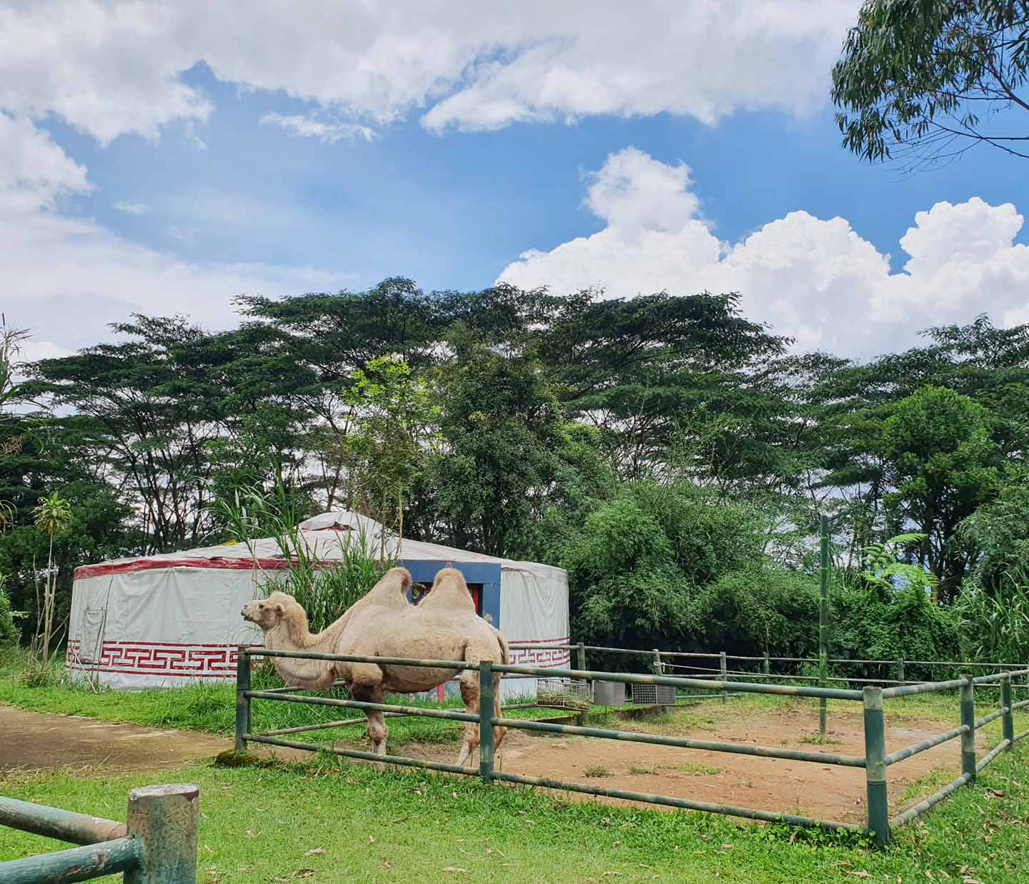
M 378 773 L 334 759 L 263 769 L 205 765 L 161 775 L 23 775 L 0 778 L 0 791 L 123 819 L 128 790 L 155 781 L 201 786 L 198 880 L 208 884 L 308 875 L 301 870 L 312 870 L 314 881 L 341 884 L 455 879 L 818 884 L 860 880 L 865 873 L 868 880 L 890 882 L 1025 880 L 1029 768 L 1009 754 L 922 824 L 897 833 L 885 852 L 861 847 L 853 838 L 709 814 L 572 802 L 524 787 L 488 787 L 470 777 Z M 0 859 L 61 846 L 0 828 Z

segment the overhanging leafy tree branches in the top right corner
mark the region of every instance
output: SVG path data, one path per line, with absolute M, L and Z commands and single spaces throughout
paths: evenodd
M 911 169 L 980 144 L 1029 157 L 1027 0 L 864 0 L 832 101 L 844 146 Z

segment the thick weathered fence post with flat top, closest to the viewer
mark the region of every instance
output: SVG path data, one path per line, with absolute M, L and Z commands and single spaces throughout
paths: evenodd
M 200 786 L 148 785 L 129 793 L 126 827 L 141 847 L 125 884 L 196 884 Z

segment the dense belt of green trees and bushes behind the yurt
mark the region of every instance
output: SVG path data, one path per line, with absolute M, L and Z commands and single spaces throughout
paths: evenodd
M 135 317 L 7 384 L 0 574 L 24 640 L 47 581 L 60 633 L 78 564 L 254 536 L 296 559 L 268 582 L 317 628 L 387 562 L 324 568 L 296 524 L 353 507 L 567 568 L 577 640 L 783 657 L 817 649 L 827 513 L 830 656 L 1029 650 L 1029 326 L 979 318 L 855 364 L 786 355 L 735 295 L 387 280 L 239 303 L 235 329 Z M 33 511 L 55 492 L 71 519 L 51 537 Z

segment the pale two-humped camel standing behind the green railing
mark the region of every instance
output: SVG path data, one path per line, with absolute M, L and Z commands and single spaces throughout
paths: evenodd
M 464 663 L 507 663 L 507 641 L 498 629 L 475 614 L 475 603 L 464 576 L 456 568 L 436 575 L 432 589 L 417 605 L 406 598 L 411 574 L 402 567 L 387 572 L 364 598 L 317 635 L 308 630 L 304 609 L 291 595 L 273 592 L 267 599 L 248 601 L 243 617 L 264 633 L 264 647 L 275 651 L 306 651 L 355 657 L 404 657 L 410 660 L 454 660 Z M 324 691 L 341 678 L 355 700 L 381 703 L 387 693 L 429 691 L 455 675 L 461 683 L 465 711 L 478 713 L 477 669 L 430 669 L 378 663 L 298 660 L 273 657 L 276 670 L 288 685 Z M 494 676 L 495 714 L 500 716 L 500 675 Z M 377 754 L 386 754 L 385 716 L 369 709 L 367 734 Z M 500 745 L 504 728 L 496 728 Z M 457 764 L 463 765 L 478 745 L 478 727 L 468 722 Z

